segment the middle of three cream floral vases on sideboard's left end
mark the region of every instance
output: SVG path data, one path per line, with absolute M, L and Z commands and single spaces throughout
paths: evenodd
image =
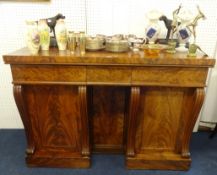
M 41 50 L 49 50 L 50 46 L 50 28 L 45 19 L 38 22 L 38 30 L 40 34 Z

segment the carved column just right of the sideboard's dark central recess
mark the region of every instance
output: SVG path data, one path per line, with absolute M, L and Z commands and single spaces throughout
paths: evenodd
M 140 88 L 131 87 L 130 104 L 127 121 L 127 150 L 129 157 L 135 156 L 135 134 L 136 134 L 136 118 L 139 107 Z

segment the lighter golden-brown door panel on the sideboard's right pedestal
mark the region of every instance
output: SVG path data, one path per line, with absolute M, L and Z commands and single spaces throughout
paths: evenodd
M 136 151 L 176 150 L 185 119 L 184 88 L 142 88 L 137 121 Z M 183 127 L 183 128 L 181 128 Z

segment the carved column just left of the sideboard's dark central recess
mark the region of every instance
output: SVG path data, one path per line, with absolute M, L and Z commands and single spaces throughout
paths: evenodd
M 80 114 L 81 114 L 81 154 L 82 156 L 90 155 L 89 143 L 89 120 L 87 112 L 87 87 L 79 86 L 79 101 L 80 101 Z

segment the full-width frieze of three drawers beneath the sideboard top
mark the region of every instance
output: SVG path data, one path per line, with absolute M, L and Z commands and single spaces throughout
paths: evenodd
M 12 65 L 11 68 L 14 84 L 54 85 L 204 87 L 208 72 L 204 67 L 158 66 Z

